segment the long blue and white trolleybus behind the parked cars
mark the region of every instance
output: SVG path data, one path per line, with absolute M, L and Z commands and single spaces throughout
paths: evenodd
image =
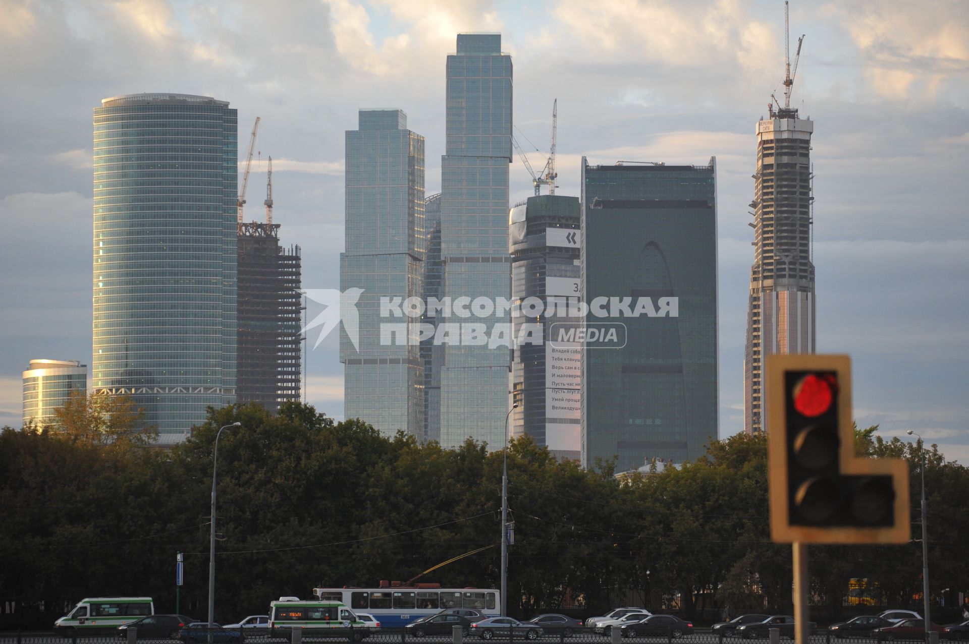
M 501 614 L 501 593 L 493 588 L 441 588 L 440 584 L 381 588 L 314 588 L 320 601 L 340 601 L 370 613 L 381 628 L 402 627 L 449 608 L 474 608 L 488 617 Z

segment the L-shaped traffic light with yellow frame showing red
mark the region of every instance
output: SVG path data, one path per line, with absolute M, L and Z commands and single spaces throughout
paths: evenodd
M 851 359 L 768 355 L 766 394 L 770 537 L 781 543 L 908 541 L 907 464 L 855 456 Z

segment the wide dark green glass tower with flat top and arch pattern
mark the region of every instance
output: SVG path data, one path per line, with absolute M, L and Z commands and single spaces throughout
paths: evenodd
M 582 465 L 697 458 L 719 434 L 715 160 L 582 159 Z M 604 335 L 606 335 L 604 333 Z

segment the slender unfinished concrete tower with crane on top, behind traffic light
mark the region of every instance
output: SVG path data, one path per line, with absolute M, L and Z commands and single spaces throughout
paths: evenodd
M 744 348 L 744 431 L 765 431 L 764 359 L 815 353 L 811 135 L 797 109 L 771 109 L 757 124 L 754 264 Z

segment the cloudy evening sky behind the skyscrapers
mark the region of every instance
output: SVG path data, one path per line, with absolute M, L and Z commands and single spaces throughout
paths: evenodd
M 91 361 L 103 98 L 229 101 L 240 149 L 260 116 L 248 200 L 272 155 L 273 220 L 302 248 L 303 286 L 338 288 L 357 110 L 407 112 L 438 192 L 446 56 L 458 32 L 500 32 L 533 166 L 558 99 L 557 194 L 578 196 L 582 156 L 717 157 L 720 434 L 742 431 L 754 130 L 782 94 L 783 24 L 780 0 L 0 0 L 0 425 L 19 426 L 31 358 Z M 852 356 L 861 426 L 969 463 L 969 3 L 792 0 L 791 25 L 792 106 L 815 124 L 818 351 Z M 532 194 L 520 161 L 511 176 L 513 202 Z M 342 418 L 335 334 L 307 373 L 308 401 Z

